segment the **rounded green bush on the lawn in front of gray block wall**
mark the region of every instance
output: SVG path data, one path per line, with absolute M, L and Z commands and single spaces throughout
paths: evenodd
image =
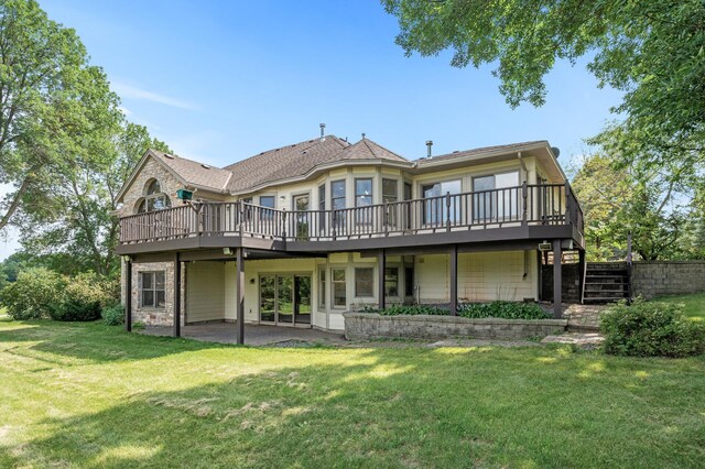
M 600 316 L 604 351 L 638 357 L 687 357 L 705 352 L 705 325 L 683 315 L 679 304 L 620 302 Z

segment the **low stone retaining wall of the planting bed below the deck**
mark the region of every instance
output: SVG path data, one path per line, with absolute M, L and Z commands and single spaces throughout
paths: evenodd
M 469 319 L 460 316 L 345 313 L 345 337 L 348 340 L 375 338 L 444 339 L 527 339 L 564 332 L 567 319 Z

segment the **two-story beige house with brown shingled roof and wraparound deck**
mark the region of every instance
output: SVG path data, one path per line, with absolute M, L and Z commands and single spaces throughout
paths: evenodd
M 322 132 L 323 133 L 323 132 Z M 583 253 L 546 141 L 408 160 L 325 135 L 218 168 L 149 150 L 119 194 L 132 320 L 344 328 L 364 305 L 535 301 L 540 249 Z M 581 259 L 584 259 L 581 255 Z M 177 312 L 177 320 L 174 320 Z

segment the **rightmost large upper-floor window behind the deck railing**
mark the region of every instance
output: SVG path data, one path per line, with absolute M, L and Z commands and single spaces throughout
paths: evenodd
M 519 172 L 492 174 L 473 179 L 473 220 L 517 220 L 521 187 Z

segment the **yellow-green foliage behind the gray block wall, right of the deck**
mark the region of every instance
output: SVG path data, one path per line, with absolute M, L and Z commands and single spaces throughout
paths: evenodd
M 696 207 L 685 204 L 693 186 L 680 170 L 622 167 L 614 157 L 587 157 L 573 179 L 585 214 L 585 239 L 589 261 L 625 259 L 628 232 L 641 259 L 693 259 L 697 250 L 687 244 L 695 234 Z M 675 178 L 673 178 L 675 177 Z

